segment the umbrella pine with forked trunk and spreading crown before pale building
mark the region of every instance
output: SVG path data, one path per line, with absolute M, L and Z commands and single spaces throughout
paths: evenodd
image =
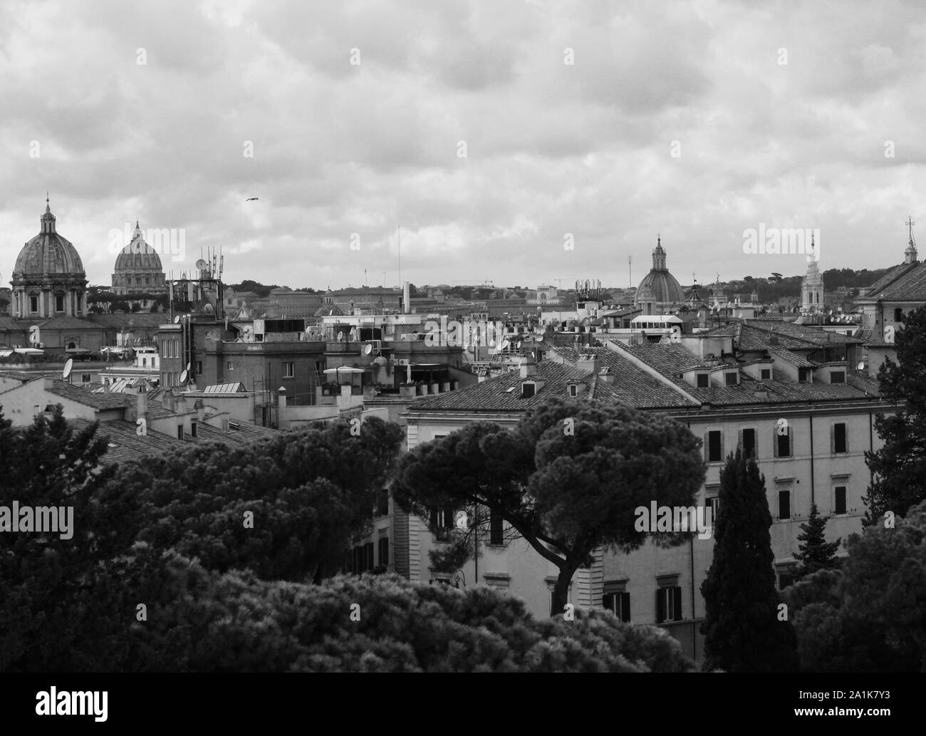
M 683 424 L 630 407 L 553 398 L 512 430 L 469 424 L 414 448 L 396 470 L 396 503 L 429 518 L 433 507 L 479 504 L 557 566 L 551 614 L 598 547 L 631 551 L 639 506 L 691 505 L 705 477 L 701 441 Z M 661 534 L 658 543 L 679 543 Z

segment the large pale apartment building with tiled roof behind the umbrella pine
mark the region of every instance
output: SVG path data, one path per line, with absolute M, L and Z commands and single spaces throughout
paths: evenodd
M 726 455 L 740 446 L 756 458 L 765 476 L 775 569 L 784 587 L 812 503 L 830 517 L 831 541 L 861 530 L 861 497 L 870 480 L 864 452 L 879 446 L 875 413 L 893 407 L 879 397 L 877 382 L 853 366 L 856 350 L 857 341 L 845 335 L 766 320 L 686 337 L 685 344 L 667 339 L 551 347 L 539 364 L 524 363 L 518 372 L 410 405 L 408 448 L 472 421 L 513 427 L 546 395 L 596 398 L 675 418 L 704 442 L 707 480 L 698 505 L 722 514 L 718 493 Z M 412 580 L 448 580 L 447 572 L 429 567 L 428 552 L 444 543 L 454 510 L 435 509 L 430 519 L 387 511 L 381 526 L 391 527 L 394 570 Z M 476 581 L 518 595 L 535 615 L 548 615 L 557 569 L 523 540 L 511 539 L 500 519 L 491 528 L 482 541 Z M 662 625 L 698 658 L 698 625 L 705 613 L 700 586 L 712 553 L 713 541 L 696 537 L 671 549 L 646 543 L 631 555 L 600 550 L 591 568 L 576 573 L 569 600 L 607 606 L 634 623 Z M 459 571 L 469 585 L 475 572 L 472 561 Z

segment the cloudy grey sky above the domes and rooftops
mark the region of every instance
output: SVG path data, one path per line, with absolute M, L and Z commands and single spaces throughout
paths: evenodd
M 91 283 L 136 218 L 292 287 L 882 268 L 924 88 L 920 2 L 0 0 L 0 274 L 46 190 Z

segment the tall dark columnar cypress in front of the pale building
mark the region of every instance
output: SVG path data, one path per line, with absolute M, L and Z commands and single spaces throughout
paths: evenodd
M 795 672 L 795 630 L 779 610 L 765 478 L 741 450 L 720 471 L 714 557 L 701 585 L 706 670 Z

